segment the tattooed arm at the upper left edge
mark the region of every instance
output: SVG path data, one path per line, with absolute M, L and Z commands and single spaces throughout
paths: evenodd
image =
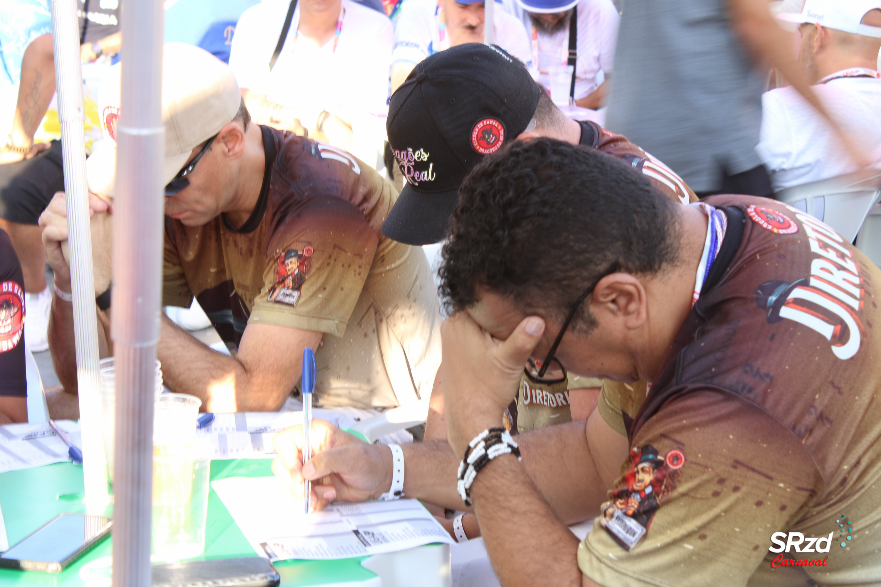
M 52 55 L 52 35 L 44 34 L 28 45 L 21 61 L 19 101 L 15 106 L 11 132 L 14 146 L 30 147 L 33 144 L 33 134 L 40 126 L 54 92 L 55 58 Z M 5 137 L 0 137 L 0 143 L 5 142 Z M 2 150 L 0 164 L 33 157 L 39 150 L 41 149 L 32 149 L 27 155 Z

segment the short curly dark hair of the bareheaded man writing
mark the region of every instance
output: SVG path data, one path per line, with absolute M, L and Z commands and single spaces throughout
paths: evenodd
M 441 295 L 457 312 L 478 287 L 562 321 L 613 264 L 655 275 L 677 262 L 677 203 L 600 151 L 548 138 L 485 158 L 459 188 L 443 247 Z M 596 324 L 581 305 L 573 326 Z

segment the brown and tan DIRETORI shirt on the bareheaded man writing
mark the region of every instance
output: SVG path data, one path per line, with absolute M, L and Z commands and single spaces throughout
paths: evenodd
M 703 202 L 721 250 L 579 566 L 621 587 L 881 584 L 881 272 L 781 202 Z

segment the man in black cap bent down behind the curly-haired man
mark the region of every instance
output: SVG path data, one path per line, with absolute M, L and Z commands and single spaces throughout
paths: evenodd
M 389 143 L 406 183 L 382 233 L 408 245 L 442 240 L 459 186 L 485 155 L 515 139 L 548 136 L 609 153 L 640 170 L 677 202 L 696 201 L 692 190 L 660 161 L 594 122 L 573 121 L 555 106 L 520 62 L 495 47 L 469 43 L 420 62 L 391 97 Z M 598 387 L 608 397 L 633 397 L 633 390 L 552 369 L 544 378 L 524 375 L 521 393 L 507 412 L 513 432 L 584 420 L 596 405 Z M 443 399 L 435 380 L 426 437 L 446 438 Z M 645 394 L 645 384 L 632 385 Z M 574 392 L 574 390 L 584 390 Z M 590 393 L 587 392 L 590 390 Z M 609 407 L 609 405 L 612 407 Z M 603 400 L 600 408 L 635 414 L 639 404 Z M 618 432 L 624 434 L 622 420 Z

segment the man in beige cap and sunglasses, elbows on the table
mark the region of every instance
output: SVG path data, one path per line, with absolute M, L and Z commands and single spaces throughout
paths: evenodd
M 112 100 L 102 108 L 110 138 L 119 114 Z M 394 189 L 344 150 L 249 119 L 226 64 L 202 49 L 165 46 L 163 305 L 189 307 L 196 297 L 233 354 L 212 351 L 163 317 L 158 356 L 167 385 L 200 397 L 207 411 L 276 410 L 297 395 L 309 347 L 324 407 L 427 397 L 441 358 L 440 314 L 425 255 L 381 235 Z M 89 161 L 92 191 L 113 185 L 113 155 L 102 150 Z M 93 209 L 106 207 L 93 198 Z M 63 195 L 41 224 L 56 291 L 66 295 L 60 212 Z M 96 294 L 109 285 L 101 278 L 108 268 L 96 260 Z M 61 294 L 49 340 L 72 390 L 72 310 Z M 102 323 L 102 355 L 112 354 Z

